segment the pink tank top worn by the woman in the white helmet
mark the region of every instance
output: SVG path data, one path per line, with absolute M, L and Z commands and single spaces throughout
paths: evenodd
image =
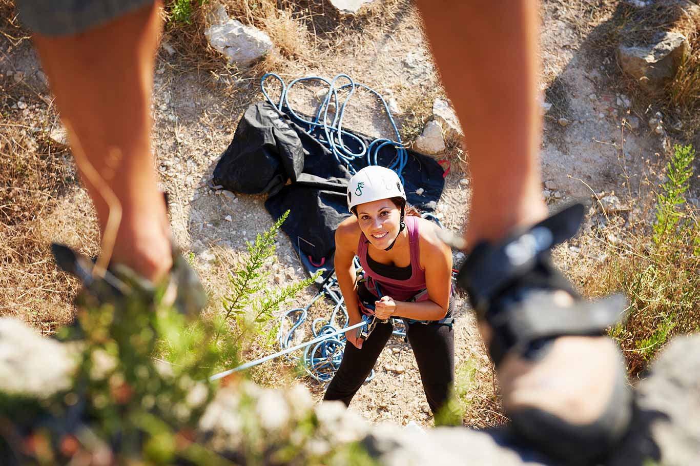
M 408 301 L 419 292 L 426 289 L 426 270 L 421 268 L 419 240 L 421 233 L 418 230 L 419 217 L 407 216 L 404 221 L 408 231 L 409 249 L 411 253 L 411 277 L 408 280 L 394 280 L 393 278 L 379 275 L 370 268 L 367 263 L 367 237 L 360 233 L 360 242 L 357 246 L 357 256 L 360 266 L 365 271 L 365 277 L 370 277 L 379 284 L 383 296 L 391 296 L 395 301 Z M 381 296 L 379 296 L 381 297 Z M 427 299 L 427 294 L 425 299 Z M 419 299 L 419 301 L 422 301 Z

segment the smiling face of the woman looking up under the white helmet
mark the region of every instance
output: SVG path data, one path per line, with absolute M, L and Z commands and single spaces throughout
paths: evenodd
M 398 235 L 401 211 L 391 199 L 374 200 L 356 207 L 360 230 L 377 249 L 386 249 Z

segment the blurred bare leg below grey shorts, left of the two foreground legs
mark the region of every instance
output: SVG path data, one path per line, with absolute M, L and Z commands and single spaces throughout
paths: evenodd
M 153 64 L 160 2 L 70 36 L 34 35 L 62 120 L 105 177 L 123 214 L 112 260 L 151 280 L 172 266 L 169 221 L 151 153 Z M 120 159 L 109 154 L 118 149 Z M 109 208 L 81 173 L 104 233 Z

